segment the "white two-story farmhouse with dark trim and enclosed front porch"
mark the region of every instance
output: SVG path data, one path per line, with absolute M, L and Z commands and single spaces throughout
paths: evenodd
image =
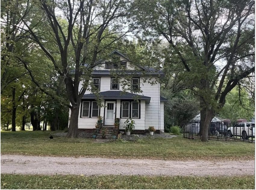
M 140 66 L 135 70 L 129 58 L 117 50 L 110 55 L 116 55 L 120 62 L 101 60 L 92 72 L 92 83 L 98 88 L 102 107 L 97 105 L 95 94 L 86 91 L 80 105 L 78 131 L 92 131 L 99 115 L 103 117 L 103 127 L 114 127 L 115 118 L 120 118 L 119 129 L 122 130 L 124 121 L 132 118 L 136 123 L 134 133 L 145 133 L 149 126 L 154 126 L 158 132 L 164 131 L 164 101 L 167 99 L 160 96 L 159 82 L 154 85 L 145 82 L 148 78 L 158 81 L 164 76 L 163 72 Z M 123 75 L 131 76 L 130 88 L 126 92 L 122 91 L 122 78 L 118 80 L 113 76 L 113 71 L 120 70 L 120 66 L 124 68 Z

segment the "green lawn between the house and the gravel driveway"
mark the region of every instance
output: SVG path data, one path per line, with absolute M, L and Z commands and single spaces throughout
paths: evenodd
M 1 132 L 1 154 L 41 156 L 87 156 L 137 159 L 254 159 L 253 143 L 238 141 L 189 140 L 179 135 L 171 139 L 94 143 L 92 138 L 68 139 L 50 131 Z

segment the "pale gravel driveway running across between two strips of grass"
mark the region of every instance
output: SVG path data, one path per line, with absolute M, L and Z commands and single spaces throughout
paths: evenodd
M 2 174 L 242 176 L 254 175 L 249 161 L 166 161 L 1 155 Z

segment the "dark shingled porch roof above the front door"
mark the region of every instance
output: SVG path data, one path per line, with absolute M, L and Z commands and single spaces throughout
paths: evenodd
M 140 99 L 145 100 L 146 103 L 150 102 L 151 97 L 149 96 L 142 96 L 138 94 L 132 94 L 129 92 L 123 92 L 123 91 L 105 91 L 105 92 L 99 92 L 99 97 L 102 99 Z M 95 94 L 85 94 L 83 95 L 82 99 L 95 99 Z

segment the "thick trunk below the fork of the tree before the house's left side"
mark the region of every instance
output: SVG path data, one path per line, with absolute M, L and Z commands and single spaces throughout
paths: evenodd
M 80 104 L 78 104 L 80 105 Z M 72 106 L 69 129 L 67 132 L 67 137 L 77 138 L 78 136 L 78 117 L 79 117 L 79 106 Z

